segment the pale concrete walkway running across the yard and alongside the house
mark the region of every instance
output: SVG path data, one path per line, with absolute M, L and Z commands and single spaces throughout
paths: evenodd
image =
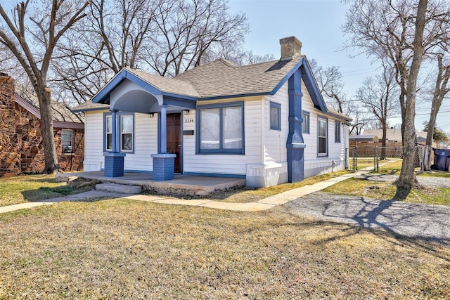
M 127 198 L 131 200 L 148 201 L 162 204 L 179 204 L 179 205 L 189 205 L 197 207 L 208 207 L 212 209 L 226 209 L 232 211 L 262 211 L 266 209 L 271 209 L 276 205 L 285 204 L 292 200 L 295 200 L 304 195 L 309 195 L 315 193 L 328 186 L 344 181 L 347 178 L 352 178 L 354 176 L 361 176 L 364 171 L 357 171 L 352 174 L 345 174 L 335 178 L 328 179 L 326 181 L 321 181 L 313 185 L 305 185 L 301 188 L 295 188 L 293 190 L 288 190 L 284 193 L 280 193 L 265 199 L 259 200 L 258 202 L 250 203 L 233 203 L 233 202 L 221 202 L 221 201 L 211 201 L 211 200 L 179 200 L 173 198 L 167 198 L 163 196 L 152 196 L 152 195 L 124 195 L 121 193 L 110 193 L 104 190 L 91 190 L 89 192 L 80 193 L 76 195 L 70 195 L 65 197 L 58 197 L 48 200 L 42 200 L 37 202 L 27 202 L 21 204 L 10 205 L 7 207 L 0 207 L 0 214 L 9 211 L 16 211 L 19 209 L 30 209 L 32 207 L 39 207 L 41 205 L 49 205 L 62 201 L 77 201 L 86 198 L 97 198 L 97 197 L 108 197 L 108 198 Z

